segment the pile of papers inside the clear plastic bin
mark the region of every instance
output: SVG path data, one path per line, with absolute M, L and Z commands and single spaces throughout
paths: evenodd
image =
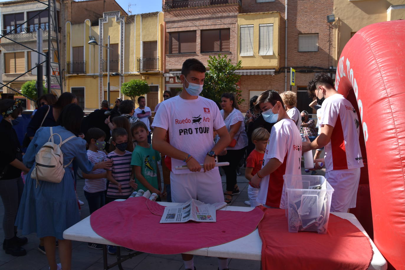
M 322 185 L 312 185 L 308 189 L 326 190 L 326 181 Z M 301 198 L 289 204 L 289 226 L 298 231 L 323 232 L 325 225 L 326 192 L 315 194 L 305 194 Z

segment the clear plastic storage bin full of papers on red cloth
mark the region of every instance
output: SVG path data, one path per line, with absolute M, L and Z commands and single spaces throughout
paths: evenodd
M 321 175 L 283 176 L 289 232 L 326 234 L 333 187 Z

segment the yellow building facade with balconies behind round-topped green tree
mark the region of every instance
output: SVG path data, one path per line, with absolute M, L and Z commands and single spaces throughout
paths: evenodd
M 107 99 L 107 47 L 110 38 L 110 105 L 121 93 L 123 83 L 145 80 L 150 92 L 145 96 L 152 111 L 162 101 L 164 91 L 163 12 L 121 16 L 105 12 L 97 23 L 66 23 L 65 89 L 78 96 L 80 105 L 93 110 Z M 94 38 L 98 45 L 88 44 Z M 136 100 L 135 100 L 135 103 Z

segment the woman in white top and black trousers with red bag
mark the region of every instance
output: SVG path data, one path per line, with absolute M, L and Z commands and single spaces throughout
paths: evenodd
M 231 93 L 224 93 L 221 96 L 220 111 L 226 128 L 228 129 L 231 143 L 226 147 L 226 155 L 218 156 L 220 162 L 229 162 L 228 166 L 223 166 L 226 175 L 226 192 L 224 193 L 225 202 L 232 203 L 232 195 L 239 194 L 239 187 L 236 182 L 236 170 L 239 161 L 245 153 L 247 146 L 247 136 L 245 132 L 245 124 L 243 123 L 243 115 L 238 110 L 238 104 L 235 96 Z

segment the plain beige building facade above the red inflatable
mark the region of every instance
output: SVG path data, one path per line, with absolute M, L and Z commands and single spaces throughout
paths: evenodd
M 373 23 L 405 19 L 405 0 L 334 0 L 333 13 L 334 59 L 339 60 L 346 43 L 361 28 Z

